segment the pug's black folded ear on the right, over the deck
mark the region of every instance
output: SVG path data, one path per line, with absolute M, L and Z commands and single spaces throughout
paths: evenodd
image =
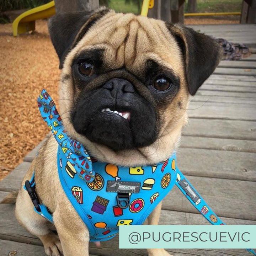
M 169 23 L 166 26 L 181 49 L 188 91 L 194 95 L 219 64 L 222 50 L 214 38 L 192 28 Z

